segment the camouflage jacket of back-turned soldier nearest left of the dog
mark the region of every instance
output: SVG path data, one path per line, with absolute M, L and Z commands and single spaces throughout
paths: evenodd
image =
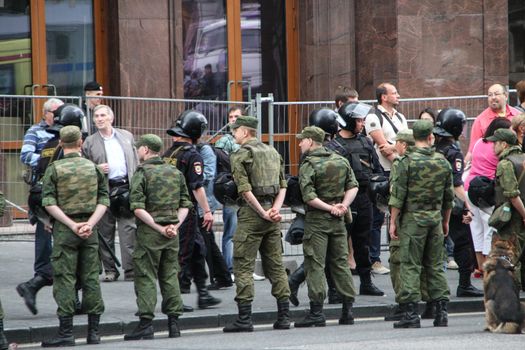
M 392 207 L 411 212 L 422 226 L 441 221 L 441 210 L 452 208 L 454 188 L 449 162 L 431 148 L 413 148 L 401 157 L 391 177 Z

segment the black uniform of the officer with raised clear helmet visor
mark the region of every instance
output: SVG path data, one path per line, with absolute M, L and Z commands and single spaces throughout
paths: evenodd
M 369 254 L 370 230 L 372 229 L 372 203 L 368 197 L 368 186 L 372 174 L 382 174 L 383 170 L 377 159 L 372 142 L 365 136 L 357 134 L 351 138 L 343 138 L 339 134 L 326 146 L 348 159 L 359 182 L 359 191 L 350 205 L 353 222 L 346 225 L 346 230 L 352 238 L 356 270 L 361 277 L 361 294 L 363 284 L 370 282 L 371 261 Z

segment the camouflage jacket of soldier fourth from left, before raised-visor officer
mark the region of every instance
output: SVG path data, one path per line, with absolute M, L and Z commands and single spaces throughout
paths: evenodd
M 319 147 L 305 155 L 299 169 L 299 185 L 305 203 L 315 198 L 338 203 L 346 191 L 357 187 L 357 180 L 348 160 Z

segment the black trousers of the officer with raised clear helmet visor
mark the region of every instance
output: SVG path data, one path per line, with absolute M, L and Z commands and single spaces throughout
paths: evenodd
M 352 239 L 354 258 L 358 274 L 370 273 L 370 231 L 372 229 L 372 203 L 365 190 L 359 190 L 350 206 L 353 222 L 346 225 L 346 231 Z

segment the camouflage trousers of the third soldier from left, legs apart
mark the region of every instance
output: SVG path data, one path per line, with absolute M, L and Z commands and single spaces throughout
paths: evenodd
M 271 205 L 263 205 L 269 209 Z M 238 304 L 253 301 L 253 272 L 257 252 L 261 254 L 264 275 L 272 284 L 272 295 L 277 300 L 288 300 L 290 288 L 283 265 L 281 224 L 261 218 L 253 209 L 242 206 L 238 211 L 237 230 L 233 235 L 233 273 Z

